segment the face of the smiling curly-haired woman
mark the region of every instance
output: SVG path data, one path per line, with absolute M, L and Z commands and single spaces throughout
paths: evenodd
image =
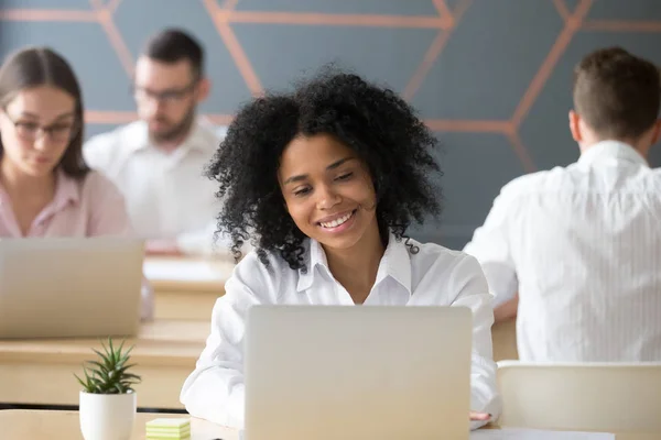
M 375 187 L 351 148 L 328 134 L 297 136 L 282 153 L 278 174 L 289 215 L 304 235 L 336 252 L 383 244 Z

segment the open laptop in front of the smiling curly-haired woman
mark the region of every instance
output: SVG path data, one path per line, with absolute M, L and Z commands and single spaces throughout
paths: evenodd
M 463 307 L 253 306 L 246 440 L 469 438 Z

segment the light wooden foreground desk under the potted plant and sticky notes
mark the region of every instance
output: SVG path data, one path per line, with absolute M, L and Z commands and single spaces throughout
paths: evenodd
M 143 440 L 144 426 L 149 420 L 159 417 L 188 417 L 187 415 L 139 413 L 136 417 L 131 440 Z M 30 411 L 0 410 L 0 429 L 2 440 L 59 439 L 80 440 L 80 427 L 77 411 Z M 497 428 L 496 428 L 497 429 Z M 191 419 L 191 440 L 238 440 L 234 429 L 220 427 L 205 420 Z M 659 433 L 629 432 L 618 433 L 616 440 L 658 440 Z

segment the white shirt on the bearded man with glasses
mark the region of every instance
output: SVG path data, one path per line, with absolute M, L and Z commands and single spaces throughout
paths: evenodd
M 224 252 L 214 245 L 217 185 L 203 176 L 220 144 L 217 133 L 198 119 L 185 142 L 167 153 L 150 144 L 147 124 L 137 121 L 91 138 L 84 154 L 119 187 L 140 238 L 175 238 L 187 254 Z

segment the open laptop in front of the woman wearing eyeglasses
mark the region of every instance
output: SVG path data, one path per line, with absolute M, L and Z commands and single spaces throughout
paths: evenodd
M 143 242 L 0 240 L 0 339 L 134 336 Z

